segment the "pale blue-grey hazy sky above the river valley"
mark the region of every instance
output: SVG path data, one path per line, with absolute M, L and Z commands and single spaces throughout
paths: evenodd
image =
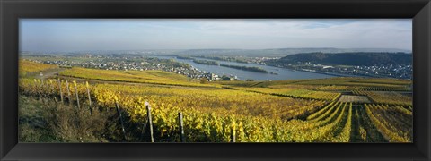
M 21 51 L 412 48 L 411 19 L 21 19 Z

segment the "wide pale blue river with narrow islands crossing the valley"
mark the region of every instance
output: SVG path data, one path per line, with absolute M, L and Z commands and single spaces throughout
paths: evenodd
M 275 66 L 261 65 L 261 64 L 242 64 L 237 62 L 227 62 L 227 61 L 216 61 L 218 64 L 232 64 L 232 65 L 240 65 L 240 66 L 257 66 L 262 69 L 268 71 L 268 73 L 262 72 L 250 72 L 243 71 L 233 68 L 228 68 L 224 66 L 218 65 L 207 65 L 207 64 L 197 64 L 189 59 L 177 59 L 175 56 L 151 56 L 157 57 L 159 59 L 174 59 L 177 62 L 182 62 L 186 64 L 190 64 L 191 66 L 197 68 L 198 70 L 215 73 L 219 76 L 222 75 L 233 75 L 237 76 L 239 80 L 300 80 L 300 79 L 321 79 L 321 78 L 330 78 L 336 77 L 333 75 L 315 73 L 315 72 L 301 72 L 294 71 L 286 68 L 279 68 Z M 195 58 L 195 59 L 203 59 L 203 58 Z M 209 60 L 209 59 L 203 59 Z M 275 72 L 277 74 L 271 74 L 269 72 Z

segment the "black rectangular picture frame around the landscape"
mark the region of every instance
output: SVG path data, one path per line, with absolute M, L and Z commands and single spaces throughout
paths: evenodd
M 0 0 L 0 160 L 431 158 L 429 0 Z M 18 143 L 20 18 L 412 18 L 413 143 Z

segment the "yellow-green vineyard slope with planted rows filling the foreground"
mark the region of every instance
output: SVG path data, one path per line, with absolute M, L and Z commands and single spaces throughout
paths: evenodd
M 412 142 L 411 97 L 386 90 L 404 91 L 401 80 L 201 84 L 171 72 L 72 68 L 19 81 L 23 100 L 111 114 L 109 142 Z M 346 91 L 372 102 L 339 101 Z

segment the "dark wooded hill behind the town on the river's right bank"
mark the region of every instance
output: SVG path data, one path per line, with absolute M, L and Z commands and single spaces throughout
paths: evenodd
M 406 53 L 304 53 L 287 55 L 280 59 L 268 61 L 268 64 L 295 64 L 311 62 L 313 64 L 412 64 L 413 55 Z

